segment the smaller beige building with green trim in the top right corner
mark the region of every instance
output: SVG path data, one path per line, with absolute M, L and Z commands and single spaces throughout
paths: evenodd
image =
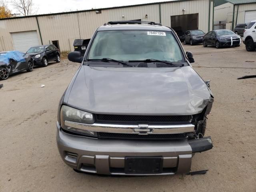
M 215 0 L 214 6 L 215 26 L 227 24 L 232 30 L 236 24 L 256 20 L 256 0 Z

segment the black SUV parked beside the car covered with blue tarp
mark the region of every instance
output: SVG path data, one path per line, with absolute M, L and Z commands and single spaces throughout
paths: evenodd
M 60 62 L 60 50 L 55 45 L 41 45 L 30 47 L 26 52 L 34 61 L 34 65 L 46 67 L 48 62 Z

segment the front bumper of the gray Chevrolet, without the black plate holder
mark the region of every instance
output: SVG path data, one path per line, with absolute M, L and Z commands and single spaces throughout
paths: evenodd
M 57 146 L 68 166 L 82 171 L 112 175 L 166 175 L 190 171 L 192 154 L 212 148 L 210 137 L 197 140 L 94 139 L 63 132 L 57 122 Z M 163 157 L 160 174 L 126 174 L 125 157 Z

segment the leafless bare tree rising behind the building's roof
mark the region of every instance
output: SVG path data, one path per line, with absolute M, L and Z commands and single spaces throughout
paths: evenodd
M 35 8 L 33 0 L 12 0 L 12 6 L 24 16 L 36 14 L 38 8 Z

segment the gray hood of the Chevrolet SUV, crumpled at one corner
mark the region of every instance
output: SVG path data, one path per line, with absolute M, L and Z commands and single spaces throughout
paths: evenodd
M 82 66 L 67 104 L 99 114 L 189 115 L 202 112 L 209 99 L 208 87 L 191 66 Z

